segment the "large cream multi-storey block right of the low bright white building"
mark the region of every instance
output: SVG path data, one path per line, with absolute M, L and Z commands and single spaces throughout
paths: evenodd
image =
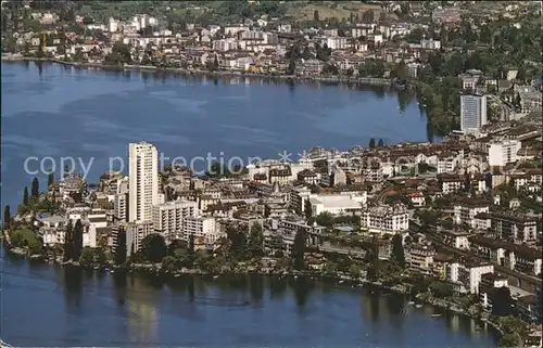
M 370 233 L 402 233 L 409 229 L 409 212 L 403 204 L 368 207 L 362 212 L 361 227 Z

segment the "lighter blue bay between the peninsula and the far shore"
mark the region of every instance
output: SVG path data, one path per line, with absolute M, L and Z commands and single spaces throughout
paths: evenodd
M 367 146 L 370 138 L 431 138 L 417 103 L 382 87 L 176 78 L 29 62 L 2 63 L 1 76 L 2 203 L 14 207 L 35 176 L 28 172 L 38 171 L 43 188 L 52 160 L 59 178 L 61 157 L 71 157 L 78 171 L 90 164 L 88 179 L 98 181 L 110 158 L 127 158 L 128 143 L 141 140 L 171 160 L 237 156 L 247 165 L 250 157 L 279 159 L 283 152 L 295 160 L 314 146 Z

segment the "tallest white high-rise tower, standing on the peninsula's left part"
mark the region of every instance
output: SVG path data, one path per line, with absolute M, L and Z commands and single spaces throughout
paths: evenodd
M 130 143 L 128 156 L 128 220 L 152 221 L 159 203 L 159 151 L 147 142 Z

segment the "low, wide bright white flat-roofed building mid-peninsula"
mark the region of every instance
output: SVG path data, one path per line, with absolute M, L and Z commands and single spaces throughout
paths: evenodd
M 312 194 L 308 196 L 308 199 L 313 216 L 323 212 L 342 215 L 362 211 L 367 202 L 367 193 L 363 191 L 342 192 L 338 194 Z

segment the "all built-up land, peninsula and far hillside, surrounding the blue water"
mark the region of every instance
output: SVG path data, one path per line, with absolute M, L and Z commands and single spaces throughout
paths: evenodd
M 24 188 L 3 215 L 13 252 L 173 276 L 370 283 L 483 319 L 501 346 L 542 347 L 540 3 L 296 1 L 292 20 L 285 1 L 241 1 L 218 18 L 224 9 L 197 3 L 122 18 L 84 2 L 93 10 L 2 1 L 2 57 L 383 79 L 412 89 L 444 138 L 213 163 L 205 175 L 160 167 L 154 144 L 130 143 L 127 172 Z

